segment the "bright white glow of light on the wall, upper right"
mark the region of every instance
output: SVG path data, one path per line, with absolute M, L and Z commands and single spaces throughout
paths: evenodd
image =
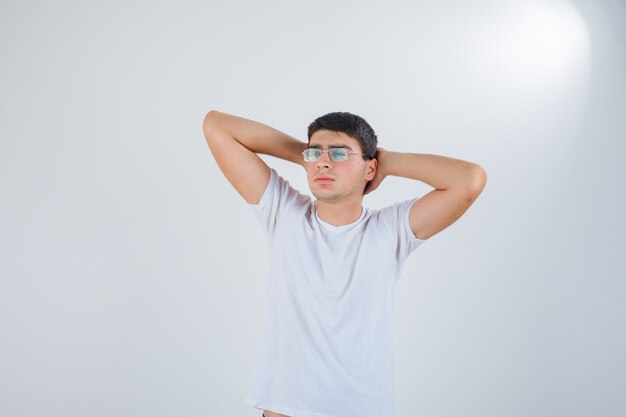
M 553 89 L 586 81 L 590 42 L 584 21 L 565 0 L 520 1 L 496 12 L 480 32 L 480 72 L 505 90 Z

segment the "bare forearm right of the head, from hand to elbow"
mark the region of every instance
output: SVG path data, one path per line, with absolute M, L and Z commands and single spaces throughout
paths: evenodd
M 411 178 L 437 189 L 482 190 L 486 173 L 480 165 L 441 155 L 385 151 L 379 161 L 385 175 Z

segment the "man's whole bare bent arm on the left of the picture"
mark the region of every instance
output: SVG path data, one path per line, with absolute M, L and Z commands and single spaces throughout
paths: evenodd
M 250 204 L 259 203 L 270 180 L 270 169 L 257 153 L 304 167 L 302 151 L 307 143 L 263 123 L 211 110 L 203 130 L 222 173 Z

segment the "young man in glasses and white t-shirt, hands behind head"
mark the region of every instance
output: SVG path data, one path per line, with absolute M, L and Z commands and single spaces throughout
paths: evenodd
M 379 148 L 370 125 L 346 112 L 311 123 L 308 143 L 216 110 L 203 127 L 269 245 L 267 322 L 246 404 L 265 417 L 392 417 L 396 281 L 407 256 L 478 197 L 485 171 Z M 258 153 L 301 165 L 315 199 Z M 363 195 L 388 175 L 435 189 L 379 210 L 363 207 Z

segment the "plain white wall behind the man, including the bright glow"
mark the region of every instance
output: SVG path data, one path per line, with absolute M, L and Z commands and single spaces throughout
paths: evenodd
M 487 171 L 398 281 L 397 417 L 626 415 L 624 1 L 9 0 L 0 59 L 0 415 L 260 416 L 266 245 L 211 109 Z

